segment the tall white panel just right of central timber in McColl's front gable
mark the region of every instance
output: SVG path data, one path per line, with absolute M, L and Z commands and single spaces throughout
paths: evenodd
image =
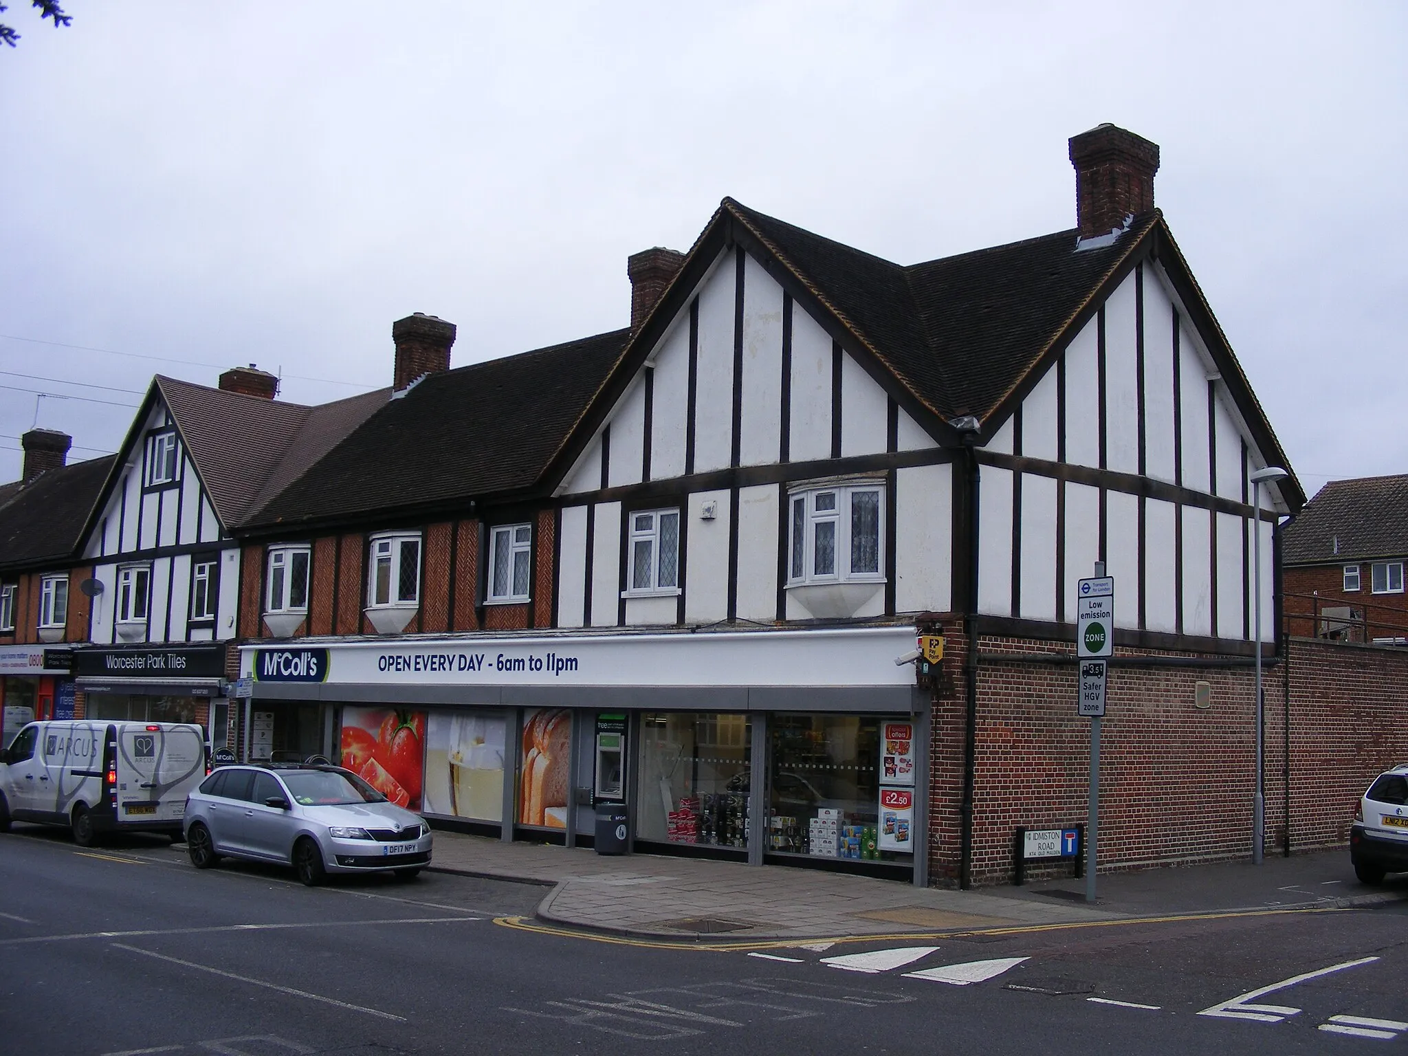
M 794 307 L 793 315 L 797 314 Z M 781 363 L 783 287 L 749 256 L 743 268 L 743 390 L 738 445 L 739 462 L 745 466 L 777 462 L 781 451 Z M 776 615 L 776 600 L 772 608 Z

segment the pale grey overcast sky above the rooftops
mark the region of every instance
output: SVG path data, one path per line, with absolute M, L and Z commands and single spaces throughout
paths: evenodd
M 725 194 L 901 263 L 1063 230 L 1101 121 L 1307 491 L 1408 472 L 1398 0 L 65 7 L 0 15 L 3 480 L 35 414 L 114 451 L 92 400 L 153 372 L 321 403 L 413 311 L 456 366 L 627 325 L 627 255 Z

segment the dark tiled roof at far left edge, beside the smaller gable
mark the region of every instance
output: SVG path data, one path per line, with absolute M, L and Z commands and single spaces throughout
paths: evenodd
M 115 455 L 51 469 L 0 505 L 0 567 L 66 562 L 113 469 Z

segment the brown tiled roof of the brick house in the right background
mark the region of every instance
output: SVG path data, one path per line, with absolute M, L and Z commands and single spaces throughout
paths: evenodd
M 1408 556 L 1408 474 L 1332 480 L 1281 536 L 1287 565 Z

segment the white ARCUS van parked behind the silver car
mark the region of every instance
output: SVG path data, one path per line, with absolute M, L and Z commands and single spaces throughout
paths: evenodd
M 186 794 L 208 773 L 206 735 L 186 722 L 30 722 L 0 752 L 0 832 L 10 819 L 182 838 Z

